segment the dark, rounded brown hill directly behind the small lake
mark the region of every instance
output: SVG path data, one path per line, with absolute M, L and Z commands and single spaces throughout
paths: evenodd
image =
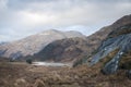
M 88 44 L 82 38 L 67 38 L 49 44 L 33 58 L 41 61 L 73 62 L 87 54 L 87 47 Z

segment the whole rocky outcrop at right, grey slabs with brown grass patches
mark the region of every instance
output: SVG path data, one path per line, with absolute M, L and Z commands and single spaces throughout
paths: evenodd
M 131 24 L 112 30 L 91 58 L 90 64 L 94 65 L 103 59 L 106 59 L 105 74 L 112 74 L 121 67 L 131 69 Z

